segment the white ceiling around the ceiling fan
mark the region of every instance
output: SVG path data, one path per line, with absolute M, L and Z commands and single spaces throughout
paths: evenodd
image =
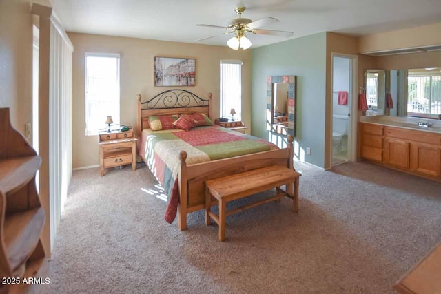
M 360 36 L 441 22 L 441 0 L 50 0 L 68 32 L 226 45 L 232 35 L 197 23 L 227 25 L 243 17 L 274 17 L 262 29 L 294 32 L 289 39 L 318 32 Z M 287 39 L 248 34 L 253 48 Z

